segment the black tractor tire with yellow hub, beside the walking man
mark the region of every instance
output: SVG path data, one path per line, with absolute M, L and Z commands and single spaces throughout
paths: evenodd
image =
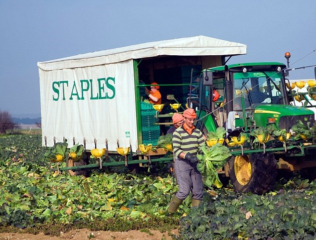
M 236 192 L 262 195 L 275 186 L 277 161 L 272 153 L 233 156 L 229 176 Z

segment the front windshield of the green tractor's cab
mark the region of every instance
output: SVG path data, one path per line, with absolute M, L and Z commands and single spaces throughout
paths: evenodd
M 234 74 L 234 110 L 241 110 L 241 98 L 245 108 L 262 104 L 284 104 L 281 74 L 277 72 L 247 72 Z

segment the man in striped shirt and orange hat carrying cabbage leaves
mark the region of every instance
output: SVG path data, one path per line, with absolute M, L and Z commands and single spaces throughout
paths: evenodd
M 197 170 L 198 148 L 205 144 L 202 132 L 195 128 L 196 113 L 193 109 L 183 112 L 183 125 L 172 134 L 174 172 L 179 191 L 175 193 L 169 204 L 168 212 L 175 212 L 182 201 L 192 193 L 192 207 L 198 206 L 203 200 L 202 175 Z

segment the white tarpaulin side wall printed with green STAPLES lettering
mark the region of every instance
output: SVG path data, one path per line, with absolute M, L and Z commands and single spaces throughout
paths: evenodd
M 137 148 L 133 60 L 116 64 L 55 71 L 39 69 L 42 135 L 47 146 L 62 142 L 110 151 Z

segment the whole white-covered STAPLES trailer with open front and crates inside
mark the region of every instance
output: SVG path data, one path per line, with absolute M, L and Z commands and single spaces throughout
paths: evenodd
M 86 152 L 105 149 L 107 159 L 100 159 L 99 165 L 76 166 L 76 159 L 69 158 L 63 169 L 72 174 L 84 168 L 121 165 L 115 159 L 119 155 L 127 158 L 125 165 L 155 161 L 151 155 L 170 161 L 172 156 L 165 156 L 162 149 L 144 152 L 140 148 L 155 146 L 172 125 L 172 114 L 183 111 L 185 104 L 191 106 L 188 87 L 194 75 L 225 64 L 226 57 L 246 54 L 246 48 L 241 43 L 195 36 L 38 62 L 42 146 L 51 148 L 67 140 L 68 148 L 79 143 Z M 142 89 L 153 82 L 159 84 L 162 95 L 164 107 L 159 111 L 142 101 Z M 118 148 L 129 153 L 120 154 Z

